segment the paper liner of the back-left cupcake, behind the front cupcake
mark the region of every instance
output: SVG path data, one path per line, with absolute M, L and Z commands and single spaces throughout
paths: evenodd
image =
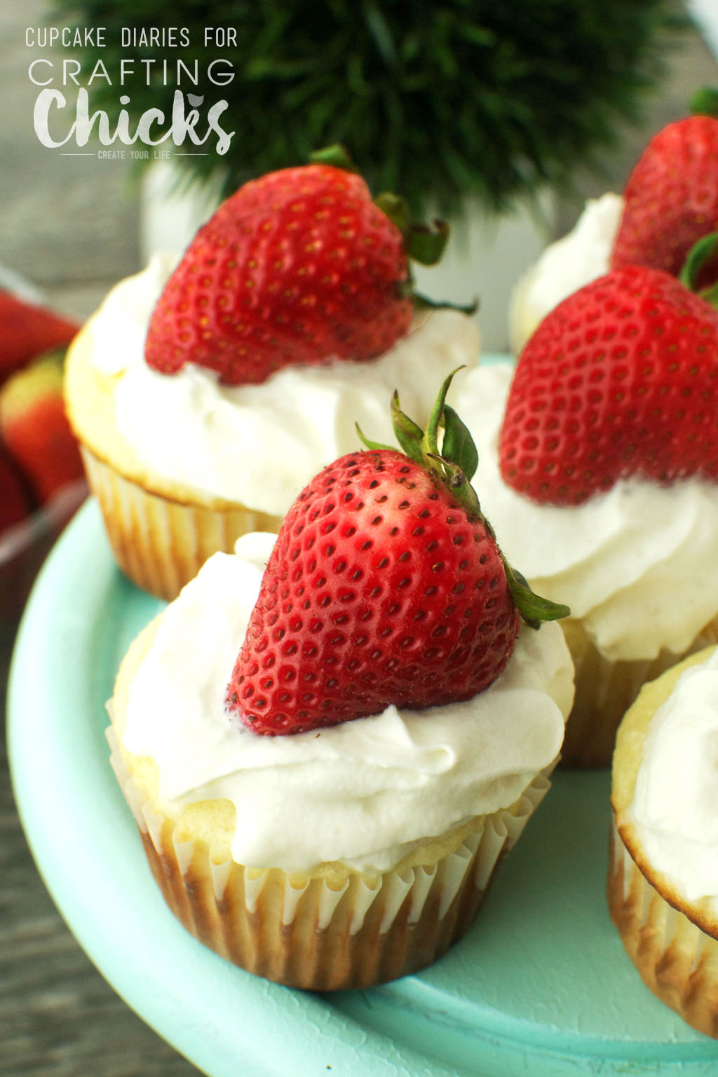
M 154 493 L 81 445 L 115 559 L 145 591 L 171 600 L 217 550 L 249 531 L 279 531 L 281 518 L 242 505 L 202 505 Z

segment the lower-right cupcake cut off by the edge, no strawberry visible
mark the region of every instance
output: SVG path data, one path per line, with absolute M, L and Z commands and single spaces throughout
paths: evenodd
M 645 685 L 616 741 L 608 906 L 644 982 L 718 1036 L 718 652 Z

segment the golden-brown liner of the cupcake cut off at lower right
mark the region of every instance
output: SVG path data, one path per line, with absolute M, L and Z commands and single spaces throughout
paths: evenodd
M 644 983 L 688 1024 L 718 1037 L 718 939 L 648 881 L 615 823 L 606 892 L 611 920 Z

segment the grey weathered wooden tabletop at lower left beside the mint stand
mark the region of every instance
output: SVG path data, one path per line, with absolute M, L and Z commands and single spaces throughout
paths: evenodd
M 0 708 L 12 628 L 0 629 Z M 137 1017 L 69 932 L 38 873 L 0 747 L 0 1074 L 196 1077 Z M 238 1075 L 241 1077 L 241 1075 Z

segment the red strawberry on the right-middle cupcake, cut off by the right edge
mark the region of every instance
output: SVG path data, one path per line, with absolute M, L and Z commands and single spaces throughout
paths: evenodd
M 521 352 L 501 473 L 554 505 L 629 475 L 715 480 L 717 417 L 718 312 L 662 270 L 614 269 L 559 304 Z

